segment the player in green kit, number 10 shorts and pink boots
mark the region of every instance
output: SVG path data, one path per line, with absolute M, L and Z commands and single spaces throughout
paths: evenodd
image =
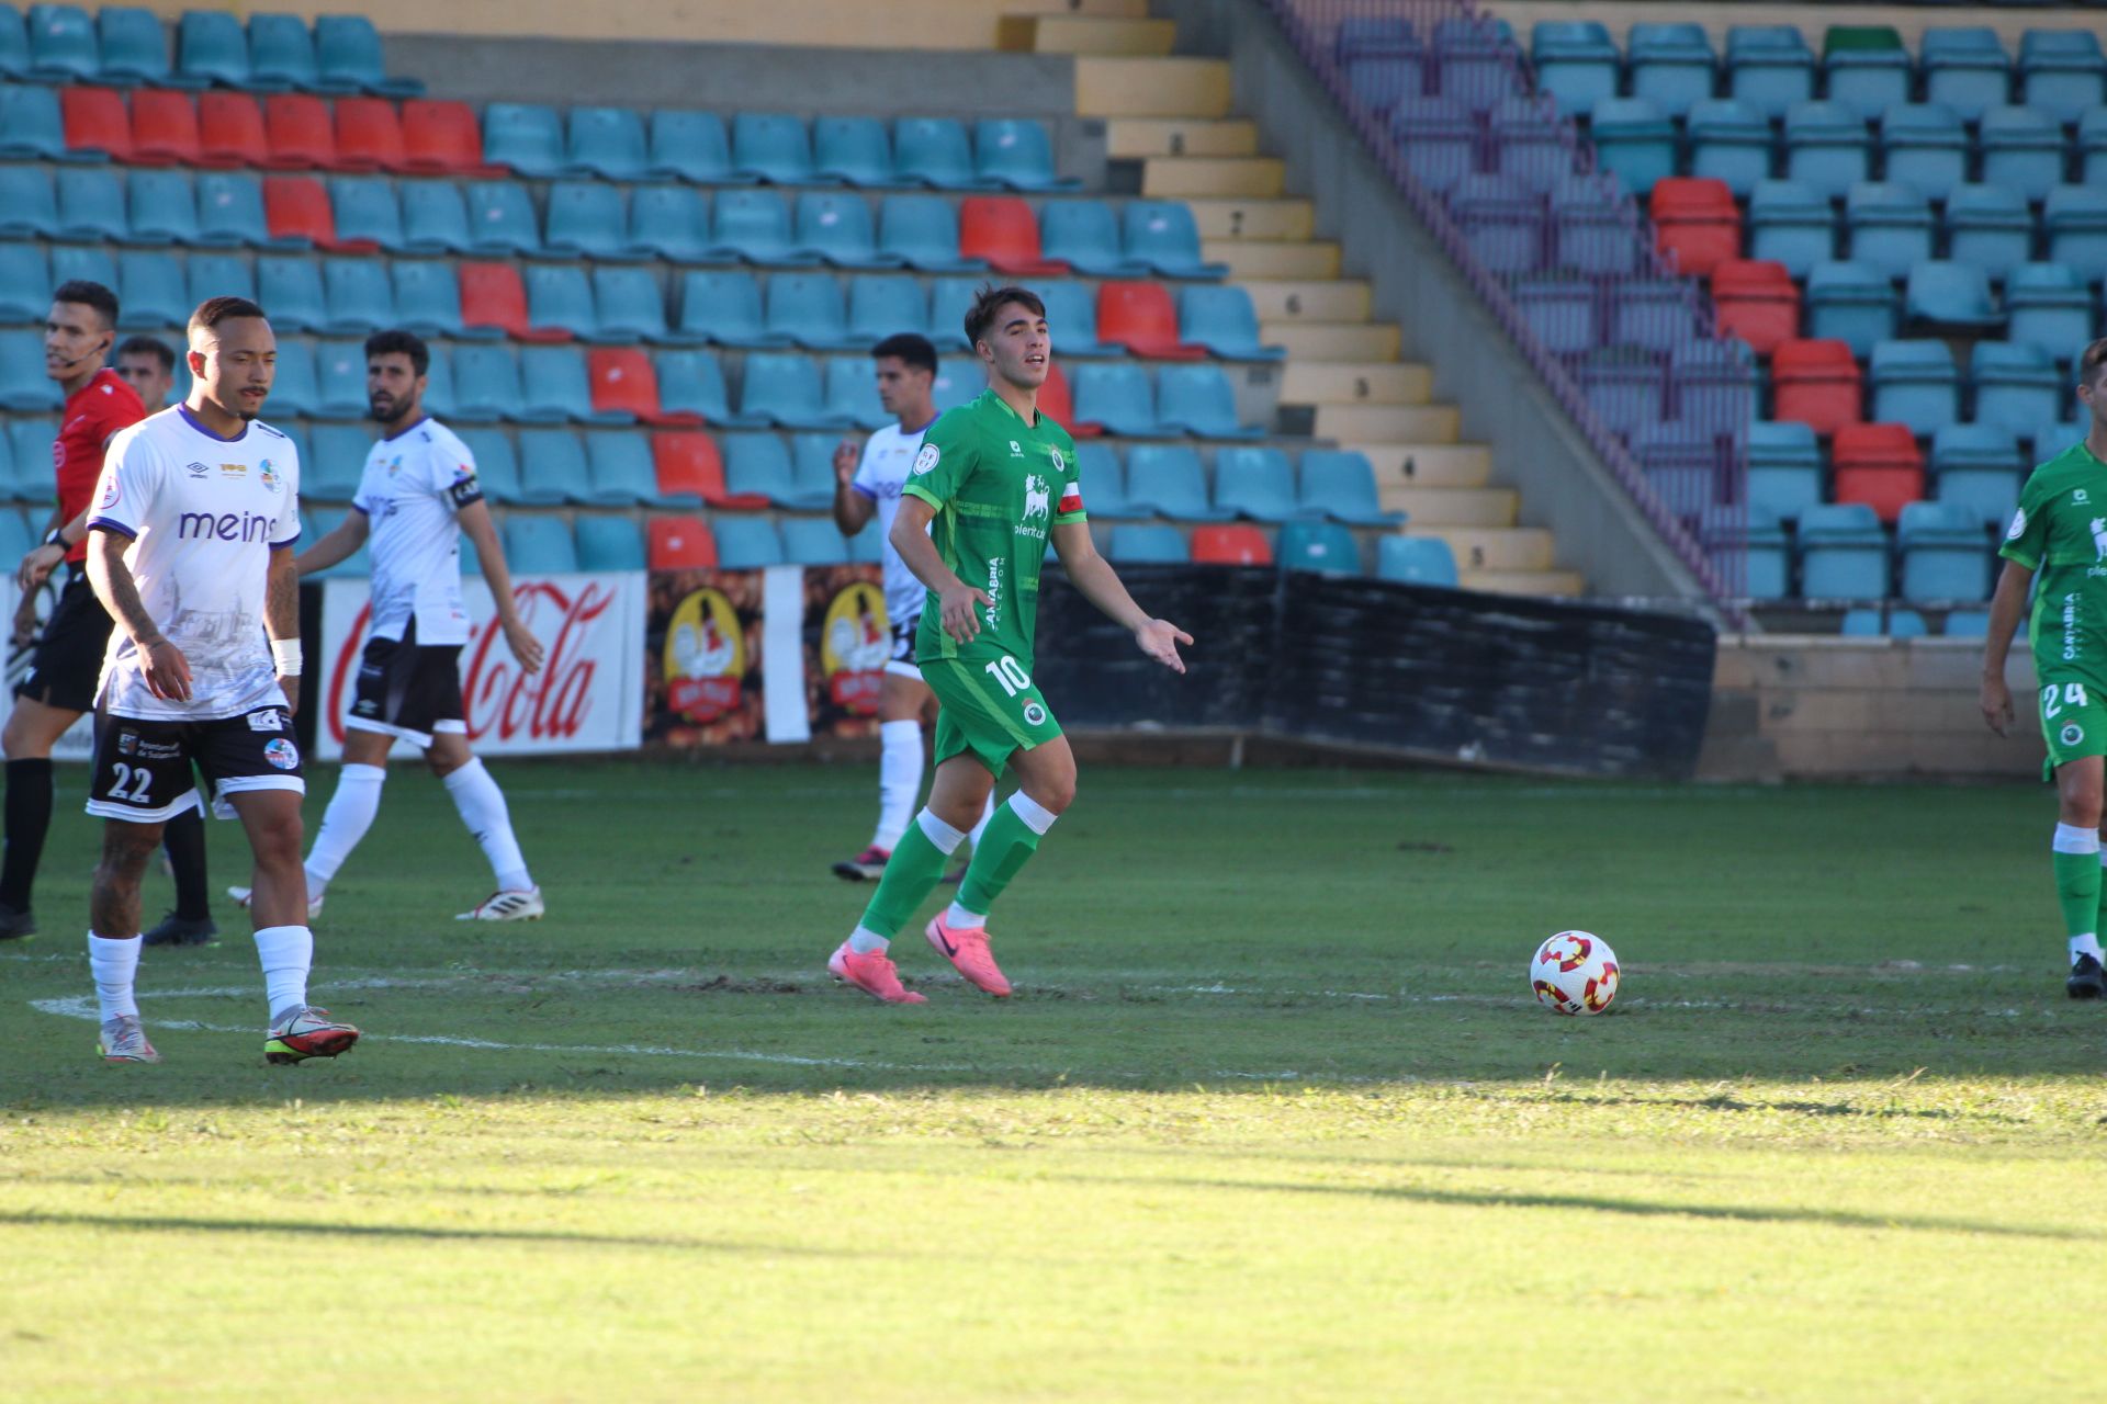
M 1083 598 L 1134 631 L 1136 646 L 1184 671 L 1193 638 L 1153 619 L 1089 541 L 1075 440 L 1039 413 L 1054 364 L 1045 303 L 1026 288 L 982 288 L 965 337 L 988 389 L 946 410 L 908 474 L 891 543 L 929 587 L 914 661 L 942 707 L 936 783 L 885 863 L 879 890 L 828 970 L 887 1004 L 921 1004 L 900 983 L 887 945 L 936 890 L 948 859 L 980 819 L 1003 770 L 1018 791 L 995 810 L 959 884 L 959 899 L 925 930 L 971 985 L 997 998 L 1009 981 L 988 949 L 988 911 L 1039 840 L 1075 800 L 1075 751 L 1032 682 L 1039 566 L 1047 541 Z

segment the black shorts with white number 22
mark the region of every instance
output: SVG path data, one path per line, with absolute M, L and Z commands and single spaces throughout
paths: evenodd
M 255 707 L 202 722 L 95 716 L 91 815 L 166 823 L 198 804 L 196 773 L 219 791 L 219 804 L 251 789 L 308 791 L 293 718 L 284 707 Z

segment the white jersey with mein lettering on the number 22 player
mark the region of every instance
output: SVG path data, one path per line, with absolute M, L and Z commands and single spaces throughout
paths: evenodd
M 139 602 L 190 661 L 190 701 L 154 697 L 118 627 L 99 705 L 116 716 L 202 722 L 284 705 L 263 634 L 272 551 L 299 541 L 293 440 L 249 421 L 219 438 L 181 404 L 110 440 L 88 526 L 131 537 Z

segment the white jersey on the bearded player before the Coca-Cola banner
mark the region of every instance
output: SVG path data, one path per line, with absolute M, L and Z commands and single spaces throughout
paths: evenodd
M 419 419 L 373 444 L 352 499 L 371 524 L 371 638 L 398 640 L 415 619 L 419 644 L 468 642 L 455 514 L 478 501 L 483 486 L 474 455 L 436 419 Z

